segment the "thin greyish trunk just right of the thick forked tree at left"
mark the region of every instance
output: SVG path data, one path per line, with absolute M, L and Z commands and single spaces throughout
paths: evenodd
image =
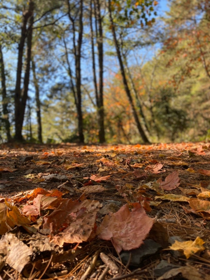
M 31 58 L 32 62 L 32 72 L 33 72 L 33 78 L 34 78 L 34 87 L 35 87 L 35 95 L 36 95 L 36 117 L 37 117 L 37 136 L 39 143 L 42 142 L 42 126 L 41 126 L 41 109 L 40 109 L 40 99 L 39 99 L 39 85 L 38 80 L 36 77 L 36 65 L 34 62 L 34 59 Z

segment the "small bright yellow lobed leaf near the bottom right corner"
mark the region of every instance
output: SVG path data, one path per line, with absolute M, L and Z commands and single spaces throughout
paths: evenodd
M 188 259 L 191 255 L 205 250 L 205 247 L 203 246 L 204 243 L 203 239 L 197 236 L 194 241 L 179 242 L 176 240 L 169 248 L 174 251 L 183 250 L 186 258 Z

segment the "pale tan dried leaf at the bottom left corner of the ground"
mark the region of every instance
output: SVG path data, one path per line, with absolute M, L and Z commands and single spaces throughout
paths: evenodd
M 15 237 L 15 234 L 7 232 L 1 237 L 0 254 L 4 256 L 4 261 L 18 272 L 29 262 L 32 253 L 32 248 Z

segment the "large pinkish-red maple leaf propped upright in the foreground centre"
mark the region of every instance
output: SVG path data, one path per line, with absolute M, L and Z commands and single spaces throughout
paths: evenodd
M 97 229 L 100 239 L 111 240 L 115 250 L 120 253 L 123 250 L 138 248 L 146 238 L 154 219 L 147 216 L 139 203 L 132 203 L 132 211 L 125 204 L 111 216 L 106 215 Z

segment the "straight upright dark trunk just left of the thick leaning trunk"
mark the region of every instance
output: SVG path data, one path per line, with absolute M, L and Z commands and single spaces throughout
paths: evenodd
M 104 133 L 104 100 L 103 100 L 103 29 L 102 29 L 102 18 L 100 11 L 99 0 L 94 0 L 96 7 L 96 15 L 98 21 L 98 30 L 99 36 L 97 37 L 97 47 L 98 47 L 98 61 L 99 61 L 99 142 L 105 142 L 105 133 Z

